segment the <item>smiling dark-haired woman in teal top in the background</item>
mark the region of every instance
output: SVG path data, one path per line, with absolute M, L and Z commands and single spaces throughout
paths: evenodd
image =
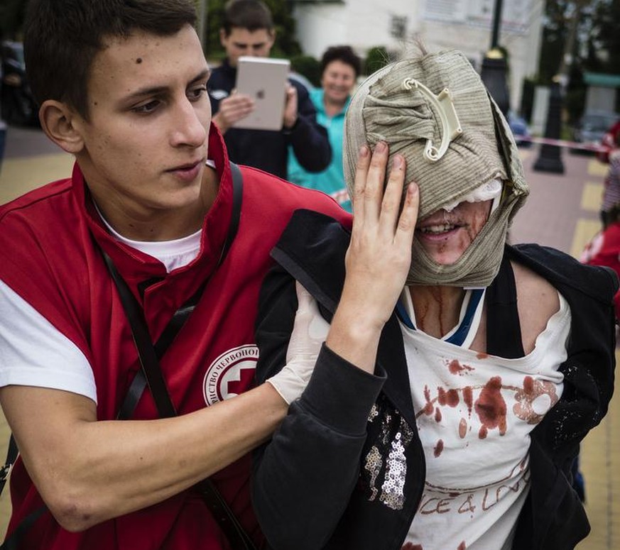
M 288 155 L 288 180 L 302 187 L 319 189 L 331 195 L 345 210 L 351 211 L 351 200 L 342 172 L 342 133 L 344 113 L 361 70 L 359 57 L 349 46 L 327 48 L 321 59 L 321 87 L 310 90 L 317 109 L 317 121 L 327 128 L 332 147 L 332 162 L 322 172 L 304 170 L 293 151 Z

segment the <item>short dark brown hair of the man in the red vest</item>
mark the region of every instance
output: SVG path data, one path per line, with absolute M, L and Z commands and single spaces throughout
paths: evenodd
M 195 26 L 192 0 L 30 0 L 24 56 L 39 104 L 65 101 L 88 119 L 88 81 L 104 39 L 133 31 L 170 36 Z

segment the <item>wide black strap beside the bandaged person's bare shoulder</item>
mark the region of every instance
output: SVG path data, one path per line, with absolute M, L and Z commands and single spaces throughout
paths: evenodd
M 514 273 L 506 254 L 486 290 L 486 352 L 508 359 L 525 356 Z

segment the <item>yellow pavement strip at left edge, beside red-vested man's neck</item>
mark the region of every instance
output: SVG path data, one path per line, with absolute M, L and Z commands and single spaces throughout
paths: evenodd
M 0 204 L 48 182 L 70 177 L 73 161 L 69 153 L 5 158 L 0 170 Z

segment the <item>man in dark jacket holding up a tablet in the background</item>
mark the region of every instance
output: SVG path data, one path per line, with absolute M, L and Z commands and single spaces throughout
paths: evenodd
M 285 178 L 290 145 L 305 170 L 324 170 L 331 158 L 327 131 L 317 123 L 308 91 L 299 82 L 288 81 L 280 131 L 232 128 L 254 109 L 251 97 L 234 92 L 237 61 L 242 55 L 269 57 L 276 40 L 266 4 L 261 0 L 229 1 L 219 39 L 226 59 L 213 70 L 207 88 L 213 122 L 224 136 L 230 160 Z

